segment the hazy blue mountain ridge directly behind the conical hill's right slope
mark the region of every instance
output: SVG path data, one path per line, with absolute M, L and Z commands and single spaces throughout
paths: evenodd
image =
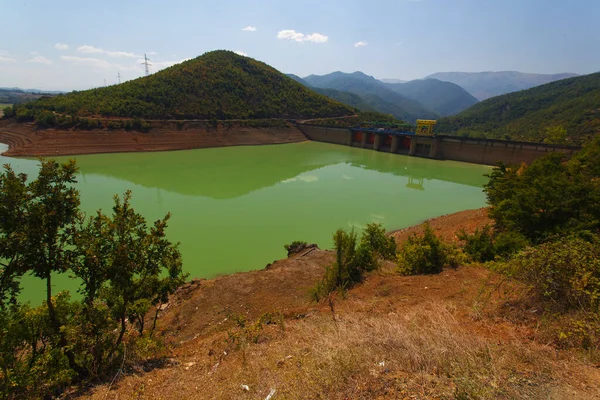
M 418 101 L 396 93 L 387 87 L 387 84 L 362 72 L 351 74 L 333 72 L 321 76 L 310 75 L 303 79 L 311 87 L 335 89 L 358 95 L 372 109 L 391 114 L 405 121 L 414 122 L 419 118 L 436 119 L 439 117 L 437 112 L 428 109 Z

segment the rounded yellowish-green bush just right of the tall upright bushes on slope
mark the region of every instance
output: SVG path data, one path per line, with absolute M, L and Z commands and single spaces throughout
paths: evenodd
M 445 267 L 458 267 L 458 251 L 445 244 L 425 223 L 423 235 L 412 234 L 398 254 L 398 270 L 402 275 L 437 274 Z

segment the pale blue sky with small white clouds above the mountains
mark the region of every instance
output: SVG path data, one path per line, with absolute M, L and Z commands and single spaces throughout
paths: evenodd
M 82 90 L 226 49 L 299 76 L 600 70 L 600 0 L 0 0 L 0 87 Z

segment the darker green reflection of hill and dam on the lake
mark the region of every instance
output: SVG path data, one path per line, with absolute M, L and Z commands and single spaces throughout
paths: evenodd
M 481 168 L 470 164 L 379 153 L 320 143 L 203 149 L 165 153 L 77 157 L 82 180 L 100 175 L 188 196 L 232 199 L 276 185 L 319 178 L 310 171 L 340 163 L 409 178 L 407 187 L 424 190 L 440 180 L 478 187 Z M 353 177 L 343 175 L 343 179 Z M 157 192 L 159 193 L 159 192 Z

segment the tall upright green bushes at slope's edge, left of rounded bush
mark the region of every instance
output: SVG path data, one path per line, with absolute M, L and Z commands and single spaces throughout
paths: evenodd
M 385 236 L 380 224 L 369 224 L 360 243 L 354 230 L 338 229 L 333 235 L 335 262 L 327 267 L 325 276 L 311 289 L 313 300 L 319 301 L 336 290 L 345 291 L 360 282 L 365 272 L 378 267 L 378 259 L 395 259 L 396 244 Z

